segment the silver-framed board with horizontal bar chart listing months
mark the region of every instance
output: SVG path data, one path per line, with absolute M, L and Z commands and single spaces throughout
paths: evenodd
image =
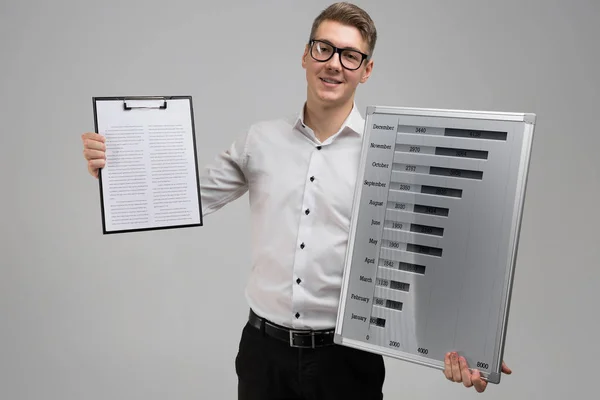
M 336 343 L 500 382 L 535 119 L 368 107 Z

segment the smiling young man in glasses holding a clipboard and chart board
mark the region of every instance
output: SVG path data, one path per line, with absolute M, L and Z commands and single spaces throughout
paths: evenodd
M 300 112 L 253 125 L 202 174 L 204 215 L 249 192 L 253 258 L 250 317 L 235 360 L 240 399 L 383 396 L 383 358 L 333 344 L 364 127 L 354 96 L 373 70 L 376 40 L 362 9 L 325 9 L 302 55 L 307 99 Z M 82 139 L 97 177 L 104 138 Z M 454 353 L 444 373 L 485 389 Z

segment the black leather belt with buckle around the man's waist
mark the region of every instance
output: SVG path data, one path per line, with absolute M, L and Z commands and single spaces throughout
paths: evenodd
M 333 335 L 335 330 L 294 330 L 280 325 L 276 325 L 269 320 L 259 317 L 250 310 L 248 322 L 253 327 L 264 331 L 268 336 L 286 342 L 290 347 L 316 348 L 333 345 Z

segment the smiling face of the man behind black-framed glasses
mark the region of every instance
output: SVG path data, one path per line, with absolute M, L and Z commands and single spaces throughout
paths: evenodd
M 367 43 L 358 29 L 334 21 L 323 21 L 313 39 L 323 40 L 338 48 L 354 48 L 368 54 Z M 359 83 L 365 83 L 371 75 L 373 61 L 363 61 L 359 69 L 348 70 L 335 54 L 329 61 L 319 62 L 310 55 L 307 46 L 302 56 L 302 67 L 306 70 L 308 99 L 321 107 L 346 105 L 354 101 Z

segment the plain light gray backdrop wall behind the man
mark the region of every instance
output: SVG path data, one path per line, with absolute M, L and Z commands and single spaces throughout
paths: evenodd
M 200 165 L 300 109 L 323 1 L 0 3 L 0 398 L 230 399 L 247 196 L 202 228 L 103 236 L 80 135 L 92 96 L 194 96 Z M 592 398 L 600 5 L 361 1 L 380 39 L 357 104 L 538 114 L 505 359 L 489 399 Z M 386 398 L 463 399 L 388 359 Z

